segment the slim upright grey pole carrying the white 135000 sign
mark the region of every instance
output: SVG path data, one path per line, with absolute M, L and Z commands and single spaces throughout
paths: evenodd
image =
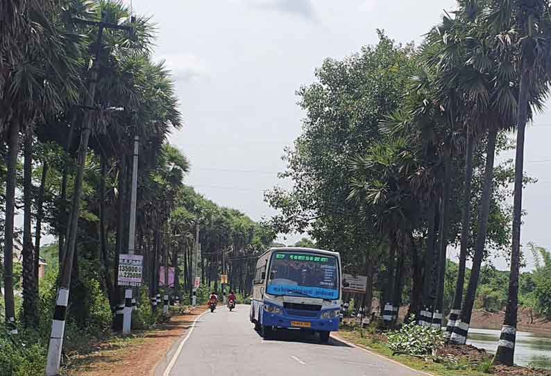
M 128 226 L 128 255 L 134 255 L 134 246 L 136 239 L 136 200 L 137 200 L 137 168 L 138 168 L 138 153 L 139 153 L 139 136 L 137 135 L 137 127 L 135 128 L 134 136 L 134 160 L 132 166 L 132 191 L 130 193 L 130 223 Z M 132 289 L 124 291 L 124 313 L 122 332 L 130 334 L 132 331 Z

